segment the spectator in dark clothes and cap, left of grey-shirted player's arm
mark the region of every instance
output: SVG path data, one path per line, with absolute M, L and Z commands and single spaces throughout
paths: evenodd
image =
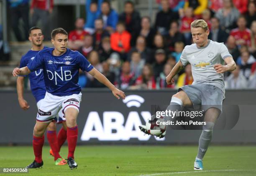
M 163 49 L 158 49 L 155 52 L 155 62 L 153 64 L 154 77 L 155 79 L 159 77 L 160 73 L 164 69 L 164 64 L 166 63 L 166 53 Z

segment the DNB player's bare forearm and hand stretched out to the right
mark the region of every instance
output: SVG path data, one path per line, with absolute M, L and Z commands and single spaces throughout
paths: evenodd
M 120 99 L 125 99 L 125 94 L 123 91 L 117 89 L 103 74 L 101 74 L 97 69 L 93 68 L 90 73 L 95 79 L 97 79 L 99 82 L 107 86 L 113 93 L 113 95 L 117 98 Z M 119 97 L 120 96 L 120 97 Z

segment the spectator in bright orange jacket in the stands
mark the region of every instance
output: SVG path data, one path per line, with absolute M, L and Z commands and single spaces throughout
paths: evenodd
M 110 36 L 110 44 L 112 50 L 119 52 L 120 55 L 123 55 L 122 59 L 126 59 L 125 53 L 129 52 L 131 45 L 131 34 L 125 30 L 125 25 L 123 22 L 118 22 L 116 27 L 116 32 Z

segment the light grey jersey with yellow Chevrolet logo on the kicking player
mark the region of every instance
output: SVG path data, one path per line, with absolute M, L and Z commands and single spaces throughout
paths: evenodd
M 224 64 L 226 57 L 232 57 L 232 55 L 223 43 L 208 40 L 205 47 L 198 48 L 196 44 L 187 45 L 182 51 L 180 61 L 184 66 L 188 62 L 191 64 L 194 79 L 192 84 L 210 84 L 218 87 L 225 94 L 224 74 L 217 73 L 213 65 Z

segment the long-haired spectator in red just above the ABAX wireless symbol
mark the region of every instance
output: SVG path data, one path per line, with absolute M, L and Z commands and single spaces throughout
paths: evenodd
M 135 86 L 131 89 L 156 89 L 156 81 L 154 79 L 154 72 L 150 64 L 145 64 L 142 74 L 136 79 Z

